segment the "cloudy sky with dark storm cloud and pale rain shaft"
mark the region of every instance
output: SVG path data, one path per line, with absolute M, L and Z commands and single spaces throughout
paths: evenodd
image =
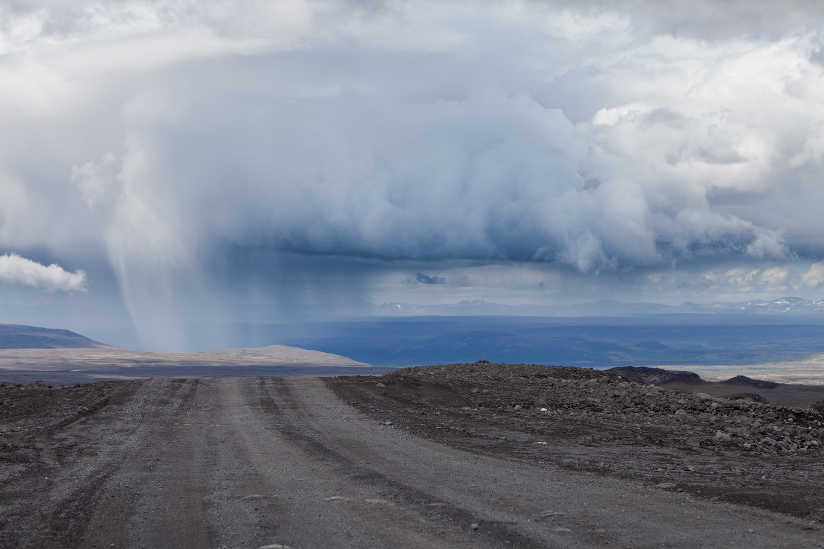
M 0 320 L 824 289 L 824 4 L 0 6 Z

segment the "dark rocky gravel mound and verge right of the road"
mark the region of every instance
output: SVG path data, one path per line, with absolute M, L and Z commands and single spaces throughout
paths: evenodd
M 426 366 L 325 383 L 379 422 L 475 454 L 824 520 L 824 494 L 813 488 L 824 483 L 824 430 L 810 408 L 534 365 Z

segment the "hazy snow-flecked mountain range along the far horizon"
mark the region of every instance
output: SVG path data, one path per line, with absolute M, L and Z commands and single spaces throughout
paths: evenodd
M 661 303 L 620 303 L 600 300 L 577 305 L 501 305 L 485 300 L 463 300 L 448 305 L 412 305 L 386 302 L 372 305 L 365 300 L 351 300 L 335 312 L 368 316 L 547 316 L 584 317 L 620 316 L 635 314 L 824 314 L 824 300 L 805 300 L 800 297 L 782 297 L 778 300 L 751 300 L 738 303 L 681 305 Z

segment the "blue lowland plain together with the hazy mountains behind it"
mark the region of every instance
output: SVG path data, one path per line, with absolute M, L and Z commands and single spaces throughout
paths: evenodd
M 340 320 L 306 323 L 302 332 L 277 323 L 269 333 L 265 323 L 228 329 L 387 367 L 475 360 L 602 369 L 660 365 L 690 368 L 711 379 L 744 372 L 824 383 L 824 300 L 599 300 L 558 306 L 350 300 L 317 307 L 318 317 Z

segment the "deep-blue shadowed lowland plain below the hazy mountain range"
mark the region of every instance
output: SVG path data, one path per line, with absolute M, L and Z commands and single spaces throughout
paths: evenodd
M 672 318 L 409 316 L 293 329 L 283 343 L 380 366 L 503 363 L 661 366 L 709 379 L 755 375 L 824 383 L 824 322 L 809 316 L 690 315 Z M 261 333 L 263 328 L 256 327 Z M 273 330 L 284 332 L 282 327 Z

